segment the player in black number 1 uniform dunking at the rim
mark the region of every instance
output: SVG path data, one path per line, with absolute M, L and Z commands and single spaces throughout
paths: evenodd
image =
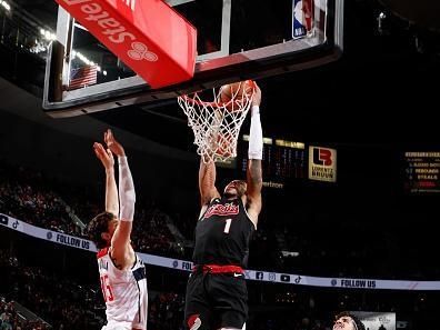
M 196 226 L 194 268 L 188 280 L 188 329 L 244 329 L 248 290 L 243 276 L 249 240 L 261 211 L 262 129 L 258 87 L 252 99 L 247 182 L 234 180 L 223 197 L 216 188 L 216 164 L 200 161 L 200 218 Z

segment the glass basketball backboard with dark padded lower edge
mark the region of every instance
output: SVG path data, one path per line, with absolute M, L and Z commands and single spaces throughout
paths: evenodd
M 48 54 L 44 110 L 71 117 L 166 100 L 321 66 L 342 51 L 343 0 L 167 2 L 197 28 L 192 79 L 151 88 L 60 7 L 57 41 Z

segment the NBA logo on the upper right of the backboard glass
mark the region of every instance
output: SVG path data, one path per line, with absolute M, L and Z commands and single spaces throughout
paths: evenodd
M 299 39 L 313 31 L 313 1 L 293 0 L 292 3 L 292 38 Z

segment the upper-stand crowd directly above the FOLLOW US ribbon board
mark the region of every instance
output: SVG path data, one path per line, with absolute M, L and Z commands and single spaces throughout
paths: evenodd
M 87 237 L 84 226 L 103 210 L 101 194 L 0 162 L 0 212 L 38 227 Z M 139 196 L 142 196 L 141 191 Z M 369 219 L 363 219 L 364 224 L 351 218 L 349 221 L 331 220 L 326 214 L 321 214 L 321 219 L 313 213 L 300 213 L 289 220 L 291 214 L 283 213 L 279 208 L 271 209 L 278 211 L 278 221 L 273 222 L 273 216 L 263 210 L 251 242 L 251 268 L 326 277 L 399 279 L 401 274 L 398 270 L 409 279 L 440 277 L 440 268 L 420 268 L 418 261 L 423 259 L 416 254 L 403 263 L 396 262 L 404 249 L 411 256 L 410 247 L 399 241 L 397 234 L 391 234 L 397 228 L 376 227 L 369 223 Z M 170 212 L 171 218 L 156 201 L 143 197 L 138 199 L 136 212 L 132 244 L 137 251 L 191 258 L 191 244 L 184 246 L 176 231 L 184 237 L 186 242 L 191 242 L 197 214 Z M 80 219 L 83 228 L 74 224 L 73 218 Z M 354 234 L 341 239 L 341 232 L 349 227 Z M 372 260 L 380 267 L 369 267 Z

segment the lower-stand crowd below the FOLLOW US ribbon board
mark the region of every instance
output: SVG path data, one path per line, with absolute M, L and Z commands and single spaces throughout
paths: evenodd
M 31 243 L 31 241 L 29 242 Z M 76 279 L 89 267 L 78 269 L 67 278 L 62 267 L 48 269 L 28 266 L 9 250 L 0 248 L 0 329 L 101 329 L 104 306 L 98 283 Z M 149 276 L 160 269 L 149 270 Z M 158 276 L 158 274 L 156 274 Z M 273 287 L 250 282 L 249 329 L 328 330 L 337 310 L 399 312 L 399 319 L 410 320 L 406 329 L 434 329 L 429 324 L 438 308 L 439 294 L 428 292 L 330 291 L 320 288 Z M 184 286 L 167 290 L 150 278 L 148 329 L 183 330 Z M 256 297 L 258 296 L 258 297 Z M 14 308 L 19 302 L 38 317 L 27 319 Z M 418 324 L 419 327 L 416 327 Z

